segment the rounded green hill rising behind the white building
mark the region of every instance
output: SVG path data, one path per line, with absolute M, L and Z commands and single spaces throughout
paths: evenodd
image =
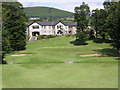
M 46 18 L 66 18 L 72 17 L 73 13 L 51 8 L 51 7 L 26 7 L 24 8 L 24 12 L 26 13 L 27 17 L 40 17 L 41 19 Z

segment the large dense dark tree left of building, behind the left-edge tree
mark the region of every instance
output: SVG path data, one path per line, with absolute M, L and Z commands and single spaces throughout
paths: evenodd
M 3 3 L 2 7 L 5 8 L 5 10 L 9 11 L 9 13 L 6 15 L 7 21 L 3 20 L 3 25 L 9 32 L 8 36 L 11 48 L 14 51 L 24 50 L 26 46 L 26 19 L 25 14 L 22 10 L 22 4 L 19 2 L 7 2 Z

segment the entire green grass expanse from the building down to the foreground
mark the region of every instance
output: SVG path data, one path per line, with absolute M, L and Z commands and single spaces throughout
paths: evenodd
M 118 57 L 80 55 L 109 53 L 105 43 L 76 46 L 74 37 L 28 42 L 25 51 L 8 54 L 3 65 L 3 88 L 118 88 Z M 32 56 L 13 57 L 13 54 Z M 64 63 L 76 61 L 77 63 Z

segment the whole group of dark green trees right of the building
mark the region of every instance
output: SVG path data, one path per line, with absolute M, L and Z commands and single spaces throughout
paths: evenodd
M 75 7 L 74 19 L 77 22 L 76 40 L 84 44 L 89 38 L 111 40 L 111 46 L 120 56 L 120 2 L 105 1 L 104 9 L 90 12 L 88 4 L 84 2 Z M 88 26 L 92 28 L 87 30 Z

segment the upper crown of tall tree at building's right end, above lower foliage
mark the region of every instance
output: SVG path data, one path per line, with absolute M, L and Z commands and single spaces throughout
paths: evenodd
M 75 7 L 75 21 L 77 22 L 77 29 L 78 31 L 84 31 L 89 22 L 89 16 L 90 16 L 90 9 L 87 4 L 84 2 L 80 7 Z

